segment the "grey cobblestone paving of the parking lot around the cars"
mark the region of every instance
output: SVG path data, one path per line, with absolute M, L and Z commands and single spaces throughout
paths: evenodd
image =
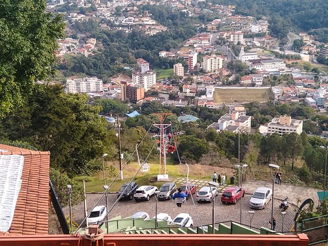
M 240 201 L 234 204 L 223 204 L 220 201 L 221 197 L 220 193 L 216 197 L 215 201 L 215 222 L 224 222 L 224 221 L 235 221 L 239 222 L 240 220 Z M 87 194 L 87 203 L 88 203 L 88 211 L 92 209 L 93 204 L 99 199 L 101 194 Z M 109 194 L 108 196 L 108 204 L 109 207 L 115 202 L 117 198 L 117 194 Z M 252 219 L 252 227 L 260 228 L 267 227 L 270 228 L 269 220 L 271 220 L 271 201 L 267 204 L 267 207 L 262 210 L 251 209 L 249 206 L 249 200 L 251 195 L 246 194 L 242 200 L 242 223 L 250 224 L 250 218 L 248 211 L 255 211 L 255 215 Z M 166 201 L 158 201 L 158 213 L 167 213 L 172 219 L 178 215 L 179 213 L 189 213 L 194 221 L 193 226 L 200 226 L 200 222 L 197 218 L 197 213 L 200 217 L 201 223 L 211 224 L 212 223 L 212 203 L 201 202 L 198 203 L 196 201 L 196 195 L 193 195 L 193 199 L 195 201 L 195 207 L 193 205 L 192 199 L 189 198 L 186 203 L 182 205 L 181 208 L 178 208 L 176 204 L 172 200 Z M 106 205 L 105 197 L 99 202 L 101 205 Z M 109 218 L 116 217 L 121 215 L 122 218 L 133 215 L 136 212 L 144 211 L 147 212 L 150 217 L 155 216 L 155 207 L 156 207 L 155 197 L 151 197 L 149 201 L 140 201 L 136 202 L 134 200 L 124 200 L 118 201 L 116 206 L 113 208 L 112 212 L 109 214 Z M 279 209 L 280 200 L 274 201 L 274 216 L 276 218 L 276 231 L 282 230 L 282 218 L 280 215 Z M 197 211 L 197 212 L 196 212 Z M 64 209 L 65 214 L 69 213 L 69 209 Z M 73 207 L 73 217 L 74 221 L 80 223 L 83 220 L 84 216 L 84 206 L 83 203 L 78 206 Z M 290 206 L 290 208 L 286 211 L 286 215 L 284 218 L 284 231 L 289 231 L 291 227 L 294 226 L 295 211 L 294 207 Z

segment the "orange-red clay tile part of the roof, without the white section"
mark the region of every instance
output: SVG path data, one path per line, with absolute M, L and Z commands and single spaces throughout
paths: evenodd
M 23 155 L 22 186 L 9 233 L 48 234 L 50 152 L 0 144 L 0 155 Z M 15 206 L 15 204 L 13 204 Z

